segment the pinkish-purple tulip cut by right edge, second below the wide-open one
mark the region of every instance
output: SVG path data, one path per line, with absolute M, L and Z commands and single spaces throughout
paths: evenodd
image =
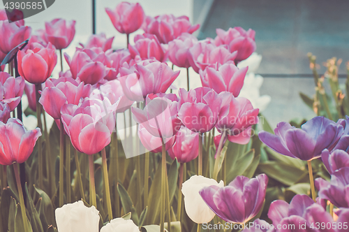
M 335 171 L 330 182 L 316 178 L 315 187 L 319 190 L 320 198 L 331 201 L 336 207 L 349 208 L 349 167 Z

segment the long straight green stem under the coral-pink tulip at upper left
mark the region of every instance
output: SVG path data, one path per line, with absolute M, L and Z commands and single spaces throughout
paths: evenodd
M 38 119 L 38 128 L 40 128 L 40 131 L 43 131 L 43 126 L 41 125 L 41 105 L 39 103 L 40 94 L 39 91 L 41 90 L 41 84 L 35 85 L 35 95 L 36 95 L 36 118 Z M 43 189 L 43 149 L 41 147 L 41 137 L 38 138 L 37 144 L 38 144 L 38 174 L 39 174 L 39 183 L 38 186 Z

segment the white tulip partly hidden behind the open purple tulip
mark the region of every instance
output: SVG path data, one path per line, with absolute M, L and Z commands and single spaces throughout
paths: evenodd
M 181 192 L 184 195 L 186 214 L 197 224 L 210 222 L 214 218 L 214 212 L 207 206 L 199 194 L 199 191 L 203 187 L 211 185 L 224 187 L 224 182 L 221 180 L 221 182 L 217 183 L 214 179 L 209 179 L 202 175 L 193 175 L 181 187 Z

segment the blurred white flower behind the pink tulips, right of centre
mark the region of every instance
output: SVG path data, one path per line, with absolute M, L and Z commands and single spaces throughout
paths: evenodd
M 242 61 L 243 62 L 243 61 Z M 239 64 L 242 64 L 240 62 Z M 239 64 L 237 65 L 239 67 Z M 248 71 L 250 67 L 248 67 Z M 248 73 L 247 71 L 247 73 Z M 246 75 L 244 80 L 244 86 L 242 87 L 239 96 L 245 97 L 250 100 L 253 108 L 260 109 L 260 112 L 265 110 L 269 105 L 272 98 L 269 95 L 260 96 L 260 87 L 262 86 L 263 78 L 261 75 L 255 75 L 254 73 L 249 73 Z

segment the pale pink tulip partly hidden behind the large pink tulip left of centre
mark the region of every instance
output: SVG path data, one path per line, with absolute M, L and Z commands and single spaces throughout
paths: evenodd
M 124 95 L 119 80 L 110 80 L 101 85 L 98 89 L 94 89 L 89 96 L 90 99 L 109 99 L 110 103 L 118 103 L 116 113 L 123 113 L 132 106 L 133 101 L 128 100 Z

